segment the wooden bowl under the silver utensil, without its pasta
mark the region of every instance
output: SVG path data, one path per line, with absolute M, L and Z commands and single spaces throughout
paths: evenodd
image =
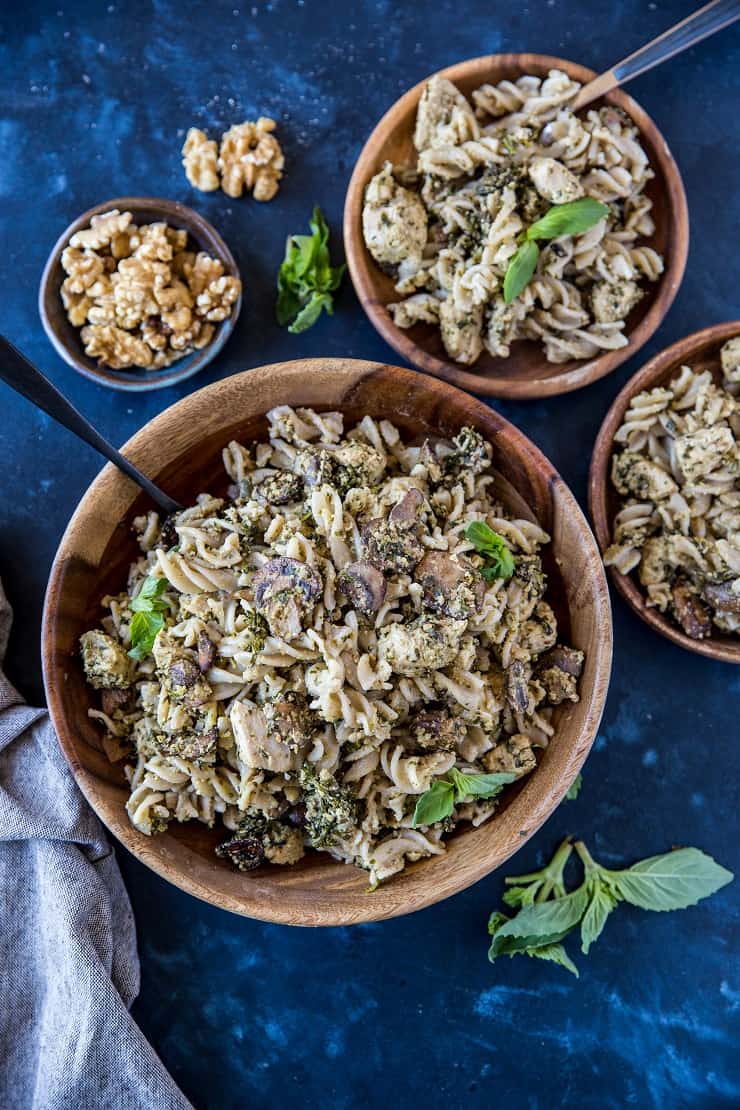
M 495 84 L 504 79 L 516 80 L 523 73 L 544 77 L 550 69 L 565 70 L 581 83 L 596 75 L 585 65 L 547 54 L 489 54 L 459 62 L 439 72 L 469 97 L 474 89 L 487 81 Z M 666 140 L 639 104 L 619 90 L 590 105 L 614 104 L 627 112 L 639 128 L 642 145 L 656 174 L 646 190 L 653 202 L 656 231 L 645 242 L 663 255 L 666 270 L 658 282 L 649 284 L 646 295 L 629 314 L 627 346 L 607 351 L 596 359 L 555 364 L 545 360 L 540 344 L 519 341 L 513 345 L 508 359 L 495 359 L 484 351 L 475 369 L 467 369 L 450 361 L 438 327 L 430 324 L 417 324 L 407 330 L 396 327 L 386 305 L 397 301 L 398 294 L 393 279 L 373 261 L 362 231 L 363 195 L 371 178 L 385 161 L 394 164 L 415 162 L 414 122 L 427 81 L 428 78 L 410 89 L 383 117 L 362 150 L 347 189 L 344 205 L 345 253 L 355 291 L 371 322 L 391 346 L 414 366 L 489 397 L 549 397 L 579 390 L 604 377 L 647 343 L 668 312 L 683 278 L 689 248 L 689 215 L 681 175 Z

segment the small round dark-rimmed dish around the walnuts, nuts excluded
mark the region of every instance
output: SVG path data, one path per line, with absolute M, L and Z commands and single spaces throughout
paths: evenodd
M 80 329 L 74 327 L 67 319 L 60 295 L 60 287 L 65 276 L 61 258 L 62 251 L 75 231 L 87 228 L 91 216 L 110 212 L 111 209 L 131 212 L 134 223 L 153 223 L 158 220 L 164 220 L 171 228 L 184 228 L 194 248 L 199 251 L 206 251 L 213 258 L 219 259 L 223 263 L 225 273 L 239 278 L 239 268 L 223 239 L 207 220 L 178 201 L 162 200 L 158 196 L 116 196 L 112 201 L 95 204 L 94 208 L 83 212 L 74 223 L 71 223 L 54 243 L 41 276 L 39 313 L 43 329 L 57 353 L 84 377 L 89 377 L 100 385 L 108 385 L 112 390 L 126 390 L 130 393 L 163 390 L 175 382 L 184 382 L 186 377 L 192 377 L 193 374 L 197 374 L 204 366 L 207 366 L 212 359 L 215 359 L 234 330 L 242 309 L 242 294 L 233 305 L 231 315 L 222 323 L 216 324 L 214 336 L 207 346 L 203 347 L 202 351 L 194 351 L 192 354 L 185 355 L 184 359 L 178 359 L 165 370 L 136 370 L 134 367 L 111 370 L 110 366 L 99 366 L 95 359 L 91 359 L 84 353 Z

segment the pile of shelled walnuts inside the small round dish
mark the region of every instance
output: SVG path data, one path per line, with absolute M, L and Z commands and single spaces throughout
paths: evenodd
M 239 279 L 204 251 L 189 251 L 182 229 L 135 226 L 130 212 L 95 219 L 87 229 L 94 235 L 79 232 L 78 242 L 101 246 L 62 252 L 61 299 L 85 353 L 114 370 L 161 370 L 207 346 L 239 299 Z

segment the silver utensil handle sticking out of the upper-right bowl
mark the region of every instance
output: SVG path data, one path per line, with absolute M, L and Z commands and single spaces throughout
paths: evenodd
M 646 73 L 716 31 L 729 27 L 736 19 L 740 19 L 740 0 L 712 0 L 585 84 L 572 102 L 572 110 L 578 111 L 617 85 L 627 84 L 640 73 Z

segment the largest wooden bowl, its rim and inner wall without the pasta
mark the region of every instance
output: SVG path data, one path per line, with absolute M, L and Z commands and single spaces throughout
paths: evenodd
M 139 554 L 132 518 L 151 507 L 110 465 L 82 497 L 51 569 L 42 630 L 44 684 L 60 744 L 82 791 L 142 862 L 183 890 L 237 914 L 288 925 L 351 925 L 407 914 L 463 890 L 508 859 L 553 813 L 596 736 L 609 680 L 611 613 L 589 526 L 550 463 L 480 402 L 410 371 L 346 359 L 262 366 L 180 401 L 123 450 L 190 504 L 201 491 L 224 490 L 222 447 L 232 438 L 264 437 L 263 414 L 285 403 L 338 408 L 347 422 L 366 413 L 386 417 L 408 436 L 452 435 L 472 424 L 490 440 L 499 495 L 530 517 L 534 511 L 554 537 L 546 566 L 562 636 L 586 652 L 581 700 L 557 710 L 557 735 L 536 773 L 507 791 L 491 821 L 456 833 L 444 856 L 410 865 L 373 895 L 366 894 L 364 871 L 318 852 L 294 867 L 264 866 L 244 876 L 213 854 L 223 829 L 193 823 L 151 839 L 138 833 L 124 810 L 128 790 L 120 766 L 102 754 L 100 728 L 88 718 L 93 697 L 77 653 L 80 634 L 100 620 L 101 597 L 121 589 Z

